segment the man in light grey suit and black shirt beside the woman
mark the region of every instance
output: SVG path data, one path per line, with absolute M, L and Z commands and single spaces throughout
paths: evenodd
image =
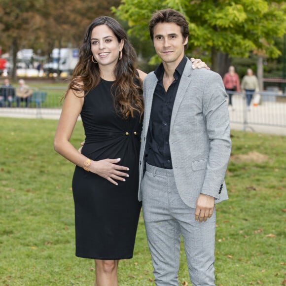
M 192 70 L 188 23 L 156 12 L 150 37 L 162 64 L 144 80 L 139 200 L 157 286 L 178 286 L 180 236 L 191 282 L 214 285 L 214 204 L 228 199 L 231 151 L 227 94 L 220 75 Z

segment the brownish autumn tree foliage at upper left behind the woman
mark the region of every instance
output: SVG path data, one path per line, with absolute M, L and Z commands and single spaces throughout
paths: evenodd
M 120 0 L 0 0 L 0 46 L 3 52 L 33 48 L 48 55 L 54 47 L 78 47 L 88 24 L 109 15 Z

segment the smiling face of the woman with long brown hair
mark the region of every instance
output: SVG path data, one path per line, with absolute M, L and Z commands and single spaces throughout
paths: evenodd
M 110 65 L 114 68 L 123 45 L 124 40 L 118 42 L 107 25 L 97 26 L 91 32 L 91 52 L 100 66 Z

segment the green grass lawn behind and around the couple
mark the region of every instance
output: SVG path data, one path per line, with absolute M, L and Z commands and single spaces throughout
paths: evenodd
M 56 125 L 0 118 L 1 286 L 94 284 L 94 261 L 74 256 L 74 166 L 53 150 Z M 72 143 L 83 138 L 78 122 Z M 286 138 L 233 131 L 232 140 L 230 199 L 216 208 L 216 285 L 285 285 Z M 151 286 L 152 279 L 141 216 L 119 285 Z M 183 251 L 179 282 L 191 285 Z

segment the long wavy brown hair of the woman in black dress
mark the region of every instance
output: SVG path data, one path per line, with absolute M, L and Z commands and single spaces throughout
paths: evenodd
M 121 25 L 111 17 L 102 16 L 96 18 L 88 27 L 83 44 L 79 48 L 79 61 L 72 74 L 69 89 L 74 94 L 85 92 L 85 95 L 97 86 L 101 80 L 98 64 L 91 61 L 91 33 L 100 25 L 107 25 L 117 37 L 118 42 L 124 40 L 122 59 L 116 64 L 114 75 L 115 82 L 112 85 L 112 94 L 116 110 L 123 118 L 134 117 L 134 112 L 143 114 L 143 89 L 142 82 L 136 70 L 137 56 L 134 48 L 127 39 L 126 32 Z

